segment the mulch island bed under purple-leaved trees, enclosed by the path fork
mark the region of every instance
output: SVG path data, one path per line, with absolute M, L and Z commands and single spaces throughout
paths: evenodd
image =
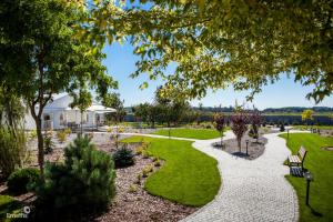
M 248 155 L 246 155 L 246 140 L 250 141 L 248 145 Z M 266 143 L 268 143 L 268 139 L 263 137 L 260 137 L 259 142 L 256 142 L 255 139 L 252 139 L 249 135 L 244 135 L 241 143 L 242 147 L 241 152 L 236 139 L 223 140 L 222 150 L 239 158 L 254 160 L 263 154 Z M 216 147 L 218 149 L 221 149 L 221 142 L 214 143 L 213 145 Z

